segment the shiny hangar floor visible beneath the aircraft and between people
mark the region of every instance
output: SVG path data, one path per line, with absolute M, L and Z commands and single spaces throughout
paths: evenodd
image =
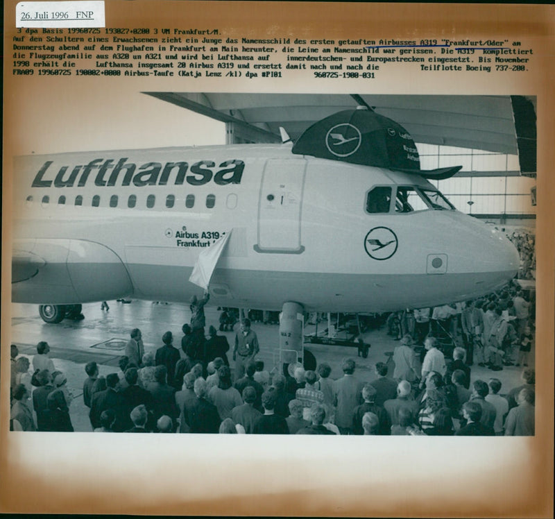
M 110 310 L 101 310 L 100 303 L 83 305 L 85 319 L 69 321 L 65 319 L 60 324 L 46 324 L 38 314 L 37 305 L 12 305 L 11 342 L 17 344 L 19 353 L 32 357 L 36 352 L 39 341 L 47 341 L 51 347 L 50 357 L 56 368 L 67 375 L 68 386 L 74 395 L 71 403 L 71 420 L 78 432 L 91 430 L 88 409 L 83 404 L 83 381 L 86 378 L 85 364 L 96 361 L 101 375 L 118 371 L 117 361 L 123 353 L 129 332 L 134 327 L 142 330 L 145 350 L 155 350 L 162 346 L 162 334 L 170 330 L 179 348 L 182 337 L 181 326 L 190 320 L 188 305 L 179 303 L 151 303 L 133 300 L 129 304 L 108 302 Z M 206 323 L 218 326 L 219 312 L 216 307 L 206 307 Z M 268 371 L 278 363 L 276 350 L 278 349 L 278 325 L 264 325 L 253 323 L 253 330 L 257 333 L 260 343 L 258 358 L 264 361 Z M 323 325 L 319 325 L 323 330 Z M 305 327 L 305 334 L 314 332 L 314 325 Z M 234 332 L 219 332 L 228 337 L 233 347 Z M 340 336 L 338 336 L 340 337 Z M 332 378 L 339 378 L 341 360 L 353 357 L 357 360 L 355 375 L 360 380 L 371 381 L 376 378 L 374 366 L 376 362 L 387 361 L 388 352 L 398 345 L 392 337 L 386 334 L 384 326 L 370 330 L 364 334 L 365 343 L 370 343 L 368 357 L 357 357 L 357 348 L 343 346 L 323 346 L 311 344 L 309 350 L 316 356 L 318 362 L 327 362 L 332 366 Z M 180 349 L 180 348 L 179 348 Z M 532 349 L 529 365 L 534 365 L 534 350 Z M 231 360 L 231 350 L 228 354 Z M 489 371 L 476 364 L 472 366 L 472 380 L 485 380 L 495 376 L 502 382 L 501 393 L 506 393 L 521 384 L 520 371 L 516 366 L 505 367 L 503 371 Z

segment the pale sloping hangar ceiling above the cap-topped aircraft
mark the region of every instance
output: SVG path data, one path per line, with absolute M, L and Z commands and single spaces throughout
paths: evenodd
M 144 92 L 227 124 L 228 143 L 296 140 L 316 121 L 367 105 L 407 129 L 415 142 L 518 155 L 536 173 L 536 98 L 373 94 Z

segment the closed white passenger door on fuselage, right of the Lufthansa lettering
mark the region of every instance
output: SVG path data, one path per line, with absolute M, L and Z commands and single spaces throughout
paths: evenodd
M 258 204 L 259 253 L 300 254 L 302 192 L 307 162 L 304 159 L 266 162 Z

